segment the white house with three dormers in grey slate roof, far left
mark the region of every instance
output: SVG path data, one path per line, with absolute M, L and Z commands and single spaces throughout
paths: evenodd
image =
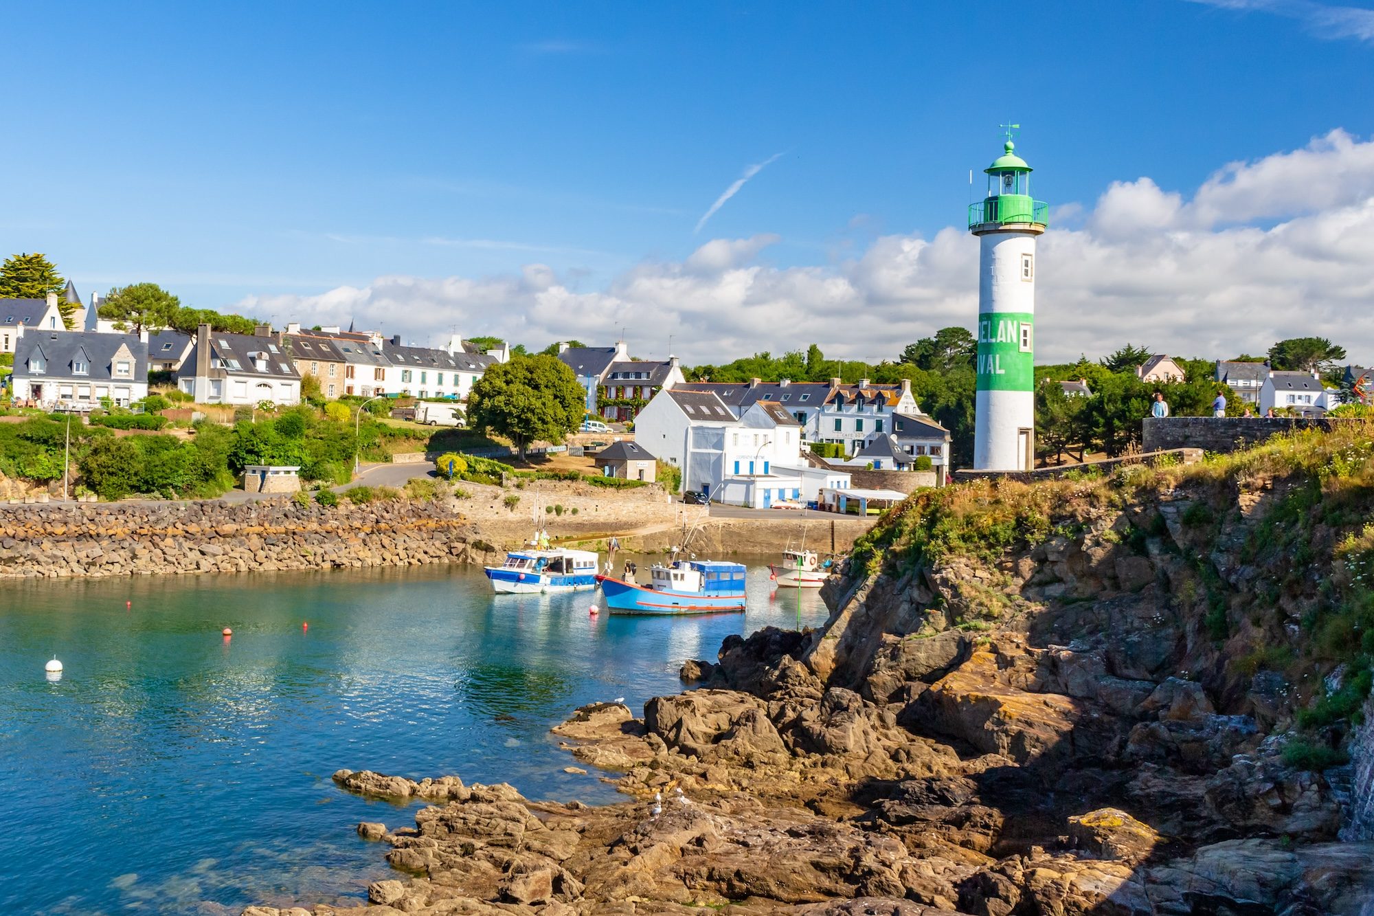
M 136 334 L 29 330 L 15 342 L 14 397 L 44 408 L 128 407 L 148 395 L 148 349 Z

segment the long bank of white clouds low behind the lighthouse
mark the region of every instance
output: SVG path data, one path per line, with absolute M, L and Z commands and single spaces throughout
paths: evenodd
M 1073 213 L 1069 205 L 1066 212 Z M 1041 362 L 1124 342 L 1187 356 L 1263 352 L 1319 334 L 1374 359 L 1374 142 L 1336 131 L 1219 169 L 1193 194 L 1147 177 L 1113 183 L 1081 220 L 1040 241 Z M 978 241 L 882 235 L 827 265 L 760 261 L 776 235 L 712 239 L 682 261 L 643 261 L 594 290 L 529 264 L 471 279 L 381 276 L 319 296 L 250 297 L 246 314 L 356 320 L 438 342 L 456 327 L 530 347 L 576 337 L 690 363 L 820 344 L 830 356 L 894 359 L 907 342 L 977 314 Z

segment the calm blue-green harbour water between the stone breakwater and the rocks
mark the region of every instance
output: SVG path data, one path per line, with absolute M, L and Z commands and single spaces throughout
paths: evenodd
M 339 767 L 614 800 L 562 772 L 548 728 L 680 689 L 731 633 L 824 620 L 769 585 L 750 569 L 746 613 L 643 619 L 591 618 L 598 593 L 496 597 L 459 567 L 3 583 L 0 912 L 363 898 L 389 869 L 353 825 L 414 809 L 338 791 Z

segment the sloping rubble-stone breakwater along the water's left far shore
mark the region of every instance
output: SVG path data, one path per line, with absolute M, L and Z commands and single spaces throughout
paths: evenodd
M 290 499 L 7 506 L 0 510 L 0 578 L 466 561 L 466 532 L 456 506 L 437 501 L 337 508 Z

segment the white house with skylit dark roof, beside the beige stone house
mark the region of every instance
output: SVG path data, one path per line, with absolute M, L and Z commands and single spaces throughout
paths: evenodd
M 201 325 L 177 371 L 177 388 L 198 404 L 301 403 L 301 375 L 282 336 L 268 325 L 253 334 L 212 331 Z

